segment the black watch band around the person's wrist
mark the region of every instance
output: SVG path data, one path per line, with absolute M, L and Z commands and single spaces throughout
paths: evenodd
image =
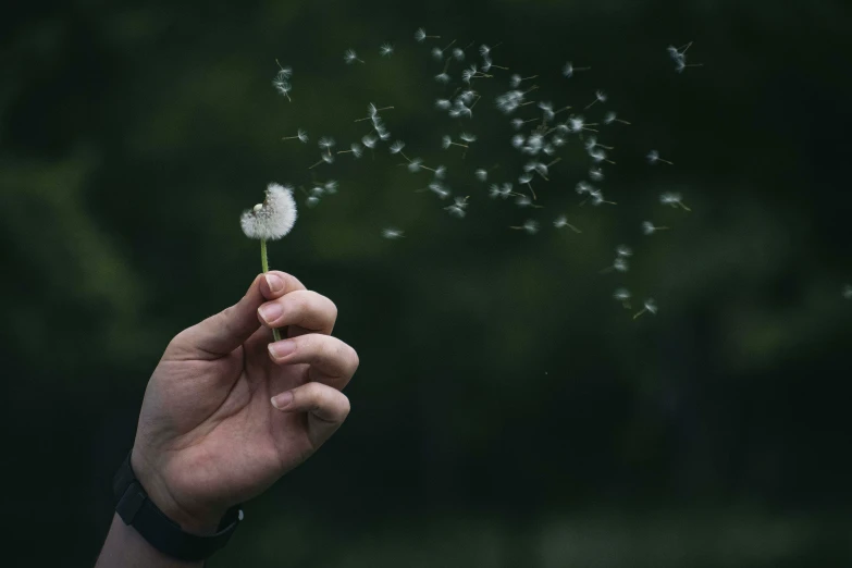
M 208 558 L 227 543 L 243 520 L 243 510 L 235 506 L 225 513 L 215 534 L 199 536 L 184 532 L 180 524 L 166 517 L 148 498 L 131 467 L 131 454 L 127 454 L 115 473 L 112 492 L 115 496 L 115 513 L 124 523 L 136 529 L 151 546 L 178 560 L 197 561 Z

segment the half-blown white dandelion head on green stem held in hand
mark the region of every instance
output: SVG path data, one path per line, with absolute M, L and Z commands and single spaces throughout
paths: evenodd
M 269 272 L 267 240 L 277 240 L 291 232 L 296 223 L 296 201 L 293 199 L 293 187 L 271 183 L 267 186 L 262 203 L 245 211 L 239 218 L 239 225 L 248 238 L 260 240 L 260 266 L 263 273 Z M 277 330 L 272 334 L 275 341 L 281 339 Z

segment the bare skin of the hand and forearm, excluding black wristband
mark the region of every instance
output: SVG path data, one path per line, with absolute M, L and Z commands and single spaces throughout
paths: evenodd
M 131 465 L 184 531 L 215 532 L 343 423 L 358 355 L 331 335 L 337 308 L 294 276 L 258 275 L 234 306 L 177 334 L 145 392 Z M 271 329 L 282 331 L 272 343 Z M 168 558 L 113 518 L 97 568 L 201 566 Z

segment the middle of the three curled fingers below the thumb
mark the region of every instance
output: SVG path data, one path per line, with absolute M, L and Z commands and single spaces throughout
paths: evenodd
M 269 344 L 276 365 L 309 363 L 310 379 L 343 388 L 358 369 L 358 354 L 336 337 L 309 333 Z

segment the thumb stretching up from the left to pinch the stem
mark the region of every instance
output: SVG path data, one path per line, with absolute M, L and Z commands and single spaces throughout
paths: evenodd
M 257 310 L 264 301 L 304 289 L 301 282 L 285 272 L 259 274 L 238 302 L 177 334 L 166 353 L 207 358 L 227 355 L 260 328 Z

